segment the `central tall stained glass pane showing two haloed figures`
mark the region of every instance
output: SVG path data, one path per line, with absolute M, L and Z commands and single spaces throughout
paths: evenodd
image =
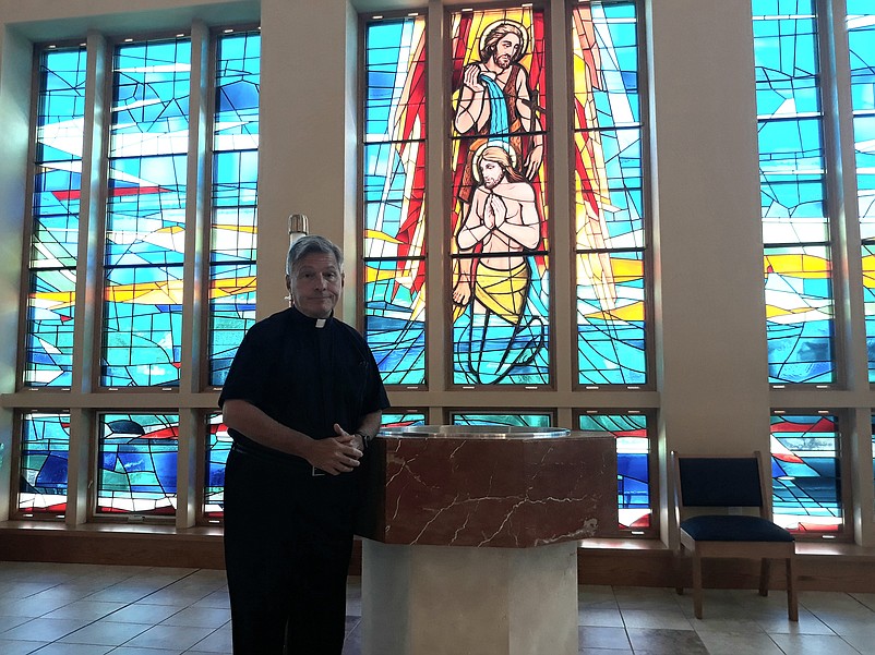
M 543 10 L 451 14 L 452 381 L 550 383 Z

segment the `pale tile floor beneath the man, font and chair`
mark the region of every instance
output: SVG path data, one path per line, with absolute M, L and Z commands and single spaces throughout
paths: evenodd
M 361 586 L 350 579 L 345 655 L 359 655 Z M 875 594 L 708 590 L 705 619 L 690 595 L 652 587 L 579 591 L 588 655 L 853 655 L 875 652 Z M 2 655 L 230 653 L 223 571 L 0 562 Z M 549 653 L 537 655 L 550 655 Z

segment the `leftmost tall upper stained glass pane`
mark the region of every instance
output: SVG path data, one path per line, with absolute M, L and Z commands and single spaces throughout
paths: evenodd
M 39 54 L 25 386 L 72 381 L 85 58 L 82 47 Z

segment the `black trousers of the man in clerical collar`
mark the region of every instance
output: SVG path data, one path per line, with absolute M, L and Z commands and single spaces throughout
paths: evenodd
M 319 507 L 301 507 L 293 474 L 300 471 L 237 447 L 228 456 L 225 566 L 235 655 L 340 655 L 344 647 L 352 532 L 326 524 Z

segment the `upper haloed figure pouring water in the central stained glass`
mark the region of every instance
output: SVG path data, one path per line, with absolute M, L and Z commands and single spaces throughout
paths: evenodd
M 488 141 L 499 140 L 516 153 L 525 153 L 525 175 L 531 180 L 543 159 L 541 134 L 531 134 L 524 147 L 522 133 L 536 126 L 535 104 L 528 85 L 528 71 L 518 61 L 526 51 L 528 35 L 515 21 L 492 23 L 480 37 L 480 61 L 465 66 L 453 125 L 462 135 L 478 135 L 468 145 L 458 196 L 462 215 L 471 202 L 475 157 Z M 516 135 L 514 135 L 516 134 Z M 459 244 L 462 246 L 462 244 Z M 471 298 L 471 260 L 459 260 L 453 300 L 466 305 Z

